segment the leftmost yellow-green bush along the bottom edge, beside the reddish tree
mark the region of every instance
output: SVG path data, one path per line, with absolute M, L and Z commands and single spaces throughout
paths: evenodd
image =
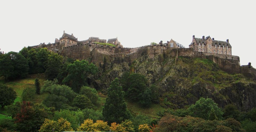
M 54 131 L 74 131 L 71 127 L 70 122 L 63 118 L 58 119 L 58 121 L 45 119 L 45 122 L 40 127 L 39 132 L 51 132 Z

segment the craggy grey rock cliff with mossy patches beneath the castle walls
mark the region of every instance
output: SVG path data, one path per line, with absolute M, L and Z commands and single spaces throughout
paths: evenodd
M 149 84 L 160 87 L 161 105 L 165 107 L 183 108 L 200 97 L 212 98 L 219 107 L 230 103 L 242 111 L 256 107 L 256 83 L 252 79 L 228 74 L 208 59 L 178 57 L 178 53 L 172 56 L 159 54 L 152 58 L 141 53 L 133 61 L 105 57 L 95 77 L 98 79 L 90 82 L 97 89 L 106 89 L 114 78 L 130 71 L 145 75 Z

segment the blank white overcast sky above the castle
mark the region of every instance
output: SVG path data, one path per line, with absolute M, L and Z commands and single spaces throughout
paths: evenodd
M 0 49 L 54 43 L 73 33 L 89 37 L 118 37 L 124 47 L 173 40 L 186 48 L 192 36 L 229 42 L 232 55 L 256 67 L 255 1 L 1 1 Z

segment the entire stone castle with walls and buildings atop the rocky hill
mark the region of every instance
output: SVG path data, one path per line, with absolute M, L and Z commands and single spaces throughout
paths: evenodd
M 62 37 L 56 38 L 55 43 L 48 43 L 47 45 L 41 43 L 31 47 L 46 47 L 50 51 L 73 59 L 89 59 L 98 66 L 102 65 L 104 58 L 115 63 L 123 61 L 131 63 L 141 57 L 142 54 L 147 54 L 151 59 L 159 54 L 169 54 L 171 57 L 207 58 L 215 62 L 223 71 L 242 73 L 247 77 L 256 79 L 256 69 L 251 66 L 251 63 L 240 66 L 240 58 L 232 55 L 229 39 L 217 41 L 210 36 L 195 38 L 193 35 L 189 48 L 185 48 L 173 39 L 167 43 L 160 41 L 159 44 L 151 43 L 150 45 L 126 48 L 121 45 L 117 38 L 106 41 L 106 39 L 90 37 L 87 40 L 78 41 L 78 38 L 75 38 L 73 34 L 70 35 L 63 31 Z

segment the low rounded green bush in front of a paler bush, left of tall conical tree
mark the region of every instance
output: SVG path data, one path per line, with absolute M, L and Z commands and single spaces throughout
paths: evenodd
M 85 109 L 85 108 L 90 109 L 94 106 L 91 100 L 85 95 L 77 95 L 77 97 L 74 98 L 73 104 L 74 106 L 81 109 Z

